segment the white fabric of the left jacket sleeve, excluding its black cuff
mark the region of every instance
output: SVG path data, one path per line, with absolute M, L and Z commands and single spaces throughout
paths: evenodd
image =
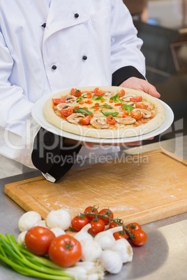
M 10 84 L 13 63 L 0 32 L 0 153 L 34 168 L 31 150 L 39 126 L 31 118 L 33 103 L 27 100 L 20 86 Z

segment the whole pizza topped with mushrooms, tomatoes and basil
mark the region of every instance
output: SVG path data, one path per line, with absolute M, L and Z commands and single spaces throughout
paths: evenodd
M 45 119 L 59 129 L 94 138 L 136 137 L 156 130 L 165 107 L 142 91 L 118 86 L 70 88 L 43 107 Z

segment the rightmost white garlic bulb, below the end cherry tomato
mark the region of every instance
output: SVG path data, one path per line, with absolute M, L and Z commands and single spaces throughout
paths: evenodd
M 123 263 L 127 263 L 128 261 L 133 260 L 133 248 L 131 247 L 129 242 L 124 238 L 117 240 L 112 245 L 110 250 L 116 251 L 117 253 L 119 253 Z

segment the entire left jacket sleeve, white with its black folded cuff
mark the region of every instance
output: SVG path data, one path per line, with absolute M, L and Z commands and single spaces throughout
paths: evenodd
M 40 128 L 31 117 L 33 103 L 27 93 L 8 80 L 12 68 L 13 58 L 0 33 L 0 154 L 59 180 L 73 166 L 81 145 L 67 146 L 65 138 Z

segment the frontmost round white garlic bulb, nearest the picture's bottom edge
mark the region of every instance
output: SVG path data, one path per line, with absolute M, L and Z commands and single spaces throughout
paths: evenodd
M 102 251 L 99 260 L 103 267 L 105 267 L 105 270 L 112 274 L 119 273 L 123 266 L 121 256 L 119 256 L 117 252 L 112 250 Z

